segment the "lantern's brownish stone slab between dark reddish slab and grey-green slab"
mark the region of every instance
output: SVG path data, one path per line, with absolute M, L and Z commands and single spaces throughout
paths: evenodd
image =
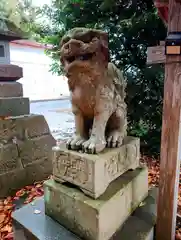
M 1 82 L 0 97 L 22 97 L 23 86 L 19 82 Z

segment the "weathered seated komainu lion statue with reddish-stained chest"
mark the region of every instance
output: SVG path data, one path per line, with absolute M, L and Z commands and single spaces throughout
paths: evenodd
M 107 33 L 74 28 L 60 42 L 71 93 L 75 135 L 68 149 L 99 153 L 121 146 L 127 129 L 125 81 L 109 62 Z

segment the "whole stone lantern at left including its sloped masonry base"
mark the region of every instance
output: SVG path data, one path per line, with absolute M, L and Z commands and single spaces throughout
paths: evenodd
M 0 198 L 47 178 L 56 144 L 44 116 L 30 114 L 29 98 L 17 82 L 23 70 L 10 63 L 9 51 L 17 39 L 20 30 L 0 17 Z

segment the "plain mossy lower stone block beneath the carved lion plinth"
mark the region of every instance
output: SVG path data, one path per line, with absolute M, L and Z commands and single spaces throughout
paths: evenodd
M 148 195 L 148 172 L 128 171 L 96 200 L 53 179 L 45 182 L 44 190 L 48 216 L 83 239 L 108 240 Z

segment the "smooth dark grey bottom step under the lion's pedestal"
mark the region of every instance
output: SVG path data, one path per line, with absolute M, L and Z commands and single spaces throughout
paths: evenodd
M 149 191 L 144 204 L 136 209 L 111 240 L 153 240 L 157 202 L 156 195 L 153 194 L 155 190 Z M 35 214 L 36 210 L 39 214 Z M 84 217 L 86 221 L 88 216 Z M 16 210 L 12 218 L 14 240 L 80 240 L 78 236 L 45 215 L 43 197 Z

